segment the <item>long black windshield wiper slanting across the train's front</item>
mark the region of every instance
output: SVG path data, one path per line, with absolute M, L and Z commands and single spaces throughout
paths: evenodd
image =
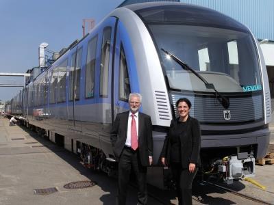
M 178 57 L 176 57 L 175 55 L 173 55 L 169 51 L 166 51 L 164 49 L 161 49 L 161 50 L 164 51 L 164 53 L 166 53 L 166 55 L 169 55 L 177 64 L 179 64 L 180 66 L 182 66 L 182 68 L 184 70 L 190 70 L 190 72 L 192 72 L 193 74 L 195 74 L 201 81 L 203 81 L 203 83 L 205 83 L 207 89 L 214 90 L 217 99 L 219 100 L 219 102 L 221 102 L 221 104 L 223 105 L 223 107 L 225 109 L 227 109 L 229 107 L 229 105 L 230 105 L 229 98 L 226 98 L 221 93 L 219 93 L 216 90 L 216 88 L 214 87 L 214 85 L 212 83 L 208 83 L 208 81 L 206 81 L 206 79 L 204 79 L 203 77 L 201 77 L 201 75 L 199 73 L 197 73 L 195 70 L 193 70 L 192 68 L 190 68 L 190 66 L 188 66 L 188 64 L 186 64 L 184 61 L 182 61 L 181 59 L 179 59 Z

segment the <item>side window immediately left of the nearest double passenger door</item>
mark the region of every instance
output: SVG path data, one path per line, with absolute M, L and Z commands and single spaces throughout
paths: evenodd
M 66 66 L 68 60 L 64 60 L 58 67 L 58 87 L 57 87 L 57 102 L 66 101 Z

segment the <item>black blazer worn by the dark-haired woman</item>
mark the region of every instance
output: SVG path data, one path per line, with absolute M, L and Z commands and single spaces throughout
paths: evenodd
M 170 162 L 170 155 L 172 152 L 169 135 L 172 129 L 178 128 L 178 121 L 179 118 L 171 120 L 169 133 L 166 135 L 166 139 L 164 140 L 161 157 L 166 158 L 167 164 Z M 199 167 L 201 165 L 201 160 L 199 157 L 201 148 L 201 130 L 198 120 L 191 118 L 188 115 L 188 120 L 186 120 L 186 133 L 181 133 L 179 137 L 181 143 L 182 168 L 188 169 L 189 163 L 195 163 L 197 167 Z

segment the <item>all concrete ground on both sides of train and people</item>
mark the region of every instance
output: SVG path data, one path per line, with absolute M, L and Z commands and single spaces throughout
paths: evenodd
M 0 204 L 115 204 L 115 178 L 86 169 L 75 154 L 23 127 L 8 124 L 7 119 L 0 119 Z M 271 144 L 274 146 L 274 126 L 270 128 L 273 131 Z M 274 165 L 256 165 L 256 177 L 253 179 L 264 185 L 266 190 L 245 181 L 235 182 L 229 189 L 274 204 L 273 173 Z M 92 180 L 97 184 L 85 189 L 64 188 L 64 184 L 82 180 Z M 34 193 L 34 189 L 51 187 L 58 191 L 49 195 Z M 177 200 L 166 196 L 168 192 L 151 191 L 158 199 L 162 199 L 162 203 L 149 197 L 149 205 L 169 204 L 169 199 L 177 204 Z M 233 197 L 231 194 L 210 191 L 199 184 L 193 189 L 193 204 L 246 204 L 244 199 Z M 136 189 L 132 186 L 128 189 L 127 200 L 128 204 L 136 204 Z

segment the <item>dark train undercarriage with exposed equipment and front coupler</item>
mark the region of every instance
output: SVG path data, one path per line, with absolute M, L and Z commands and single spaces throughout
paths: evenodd
M 46 131 L 43 128 L 25 124 L 32 131 L 38 135 L 53 141 L 71 152 L 79 156 L 79 163 L 88 169 L 93 169 L 105 172 L 108 176 L 117 176 L 118 163 L 113 156 L 106 156 L 103 150 L 85 143 L 81 138 L 71 138 L 70 143 L 65 142 L 65 137 L 54 133 L 53 131 Z M 255 176 L 255 154 L 256 145 L 238 146 L 231 148 L 202 148 L 201 161 L 202 166 L 199 168 L 201 181 L 214 180 L 223 181 L 227 184 L 232 184 L 234 180 L 244 180 L 246 177 Z M 149 167 L 148 182 L 160 189 L 170 189 L 173 187 L 171 170 L 169 167 L 162 167 L 160 163 Z M 157 180 L 155 180 L 157 178 Z M 161 178 L 161 179 L 160 179 Z

